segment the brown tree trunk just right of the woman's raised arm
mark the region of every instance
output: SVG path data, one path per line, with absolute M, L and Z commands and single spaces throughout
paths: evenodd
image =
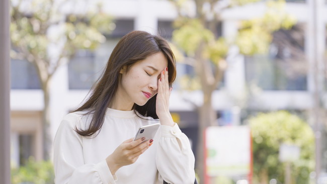
M 203 90 L 203 105 L 199 108 L 199 137 L 198 137 L 198 145 L 197 145 L 197 168 L 196 171 L 200 177 L 200 182 L 205 183 L 205 130 L 209 126 L 215 126 L 217 115 L 212 108 L 211 100 L 212 100 L 212 91 Z

